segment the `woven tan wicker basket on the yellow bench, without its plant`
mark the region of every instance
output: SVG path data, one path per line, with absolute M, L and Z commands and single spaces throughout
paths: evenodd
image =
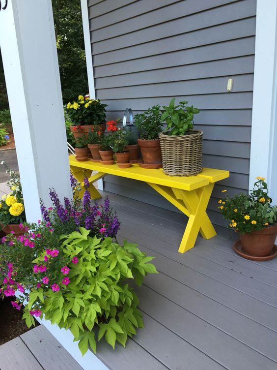
M 160 134 L 163 169 L 170 176 L 193 176 L 202 171 L 203 131 L 186 135 Z

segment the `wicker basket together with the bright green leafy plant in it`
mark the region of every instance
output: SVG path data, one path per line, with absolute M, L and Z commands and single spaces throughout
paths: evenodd
M 175 98 L 163 106 L 161 122 L 166 122 L 161 140 L 163 170 L 166 175 L 192 176 L 202 171 L 203 131 L 193 130 L 194 114 L 199 113 L 187 101 L 175 105 Z

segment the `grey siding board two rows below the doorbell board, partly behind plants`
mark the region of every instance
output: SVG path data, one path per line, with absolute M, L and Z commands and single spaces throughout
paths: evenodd
M 134 105 L 130 105 L 134 108 Z M 109 109 L 109 107 L 108 107 Z M 125 110 L 125 109 L 124 109 Z M 124 110 L 119 111 L 108 111 L 107 118 L 109 120 L 116 120 L 117 118 L 123 118 Z M 133 109 L 134 115 L 142 113 Z M 225 110 L 204 110 L 202 109 L 197 115 L 194 116 L 194 123 L 205 124 L 205 125 L 230 125 L 230 126 L 251 126 L 251 109 L 225 109 Z M 217 129 L 217 128 L 215 128 Z M 225 136 L 224 136 L 225 140 Z

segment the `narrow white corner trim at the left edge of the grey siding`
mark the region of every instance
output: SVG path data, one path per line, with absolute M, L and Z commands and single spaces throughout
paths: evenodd
M 83 18 L 83 38 L 84 38 L 89 96 L 93 99 L 96 99 L 87 0 L 81 0 L 81 8 Z M 97 181 L 97 186 L 99 190 L 104 190 L 103 179 Z

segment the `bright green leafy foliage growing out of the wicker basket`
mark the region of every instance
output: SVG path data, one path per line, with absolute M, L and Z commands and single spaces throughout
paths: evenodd
M 187 101 L 180 101 L 175 105 L 175 98 L 170 100 L 168 107 L 163 106 L 161 122 L 166 121 L 165 133 L 167 135 L 185 135 L 194 127 L 194 114 L 199 113 L 199 109 L 194 106 L 186 106 Z

